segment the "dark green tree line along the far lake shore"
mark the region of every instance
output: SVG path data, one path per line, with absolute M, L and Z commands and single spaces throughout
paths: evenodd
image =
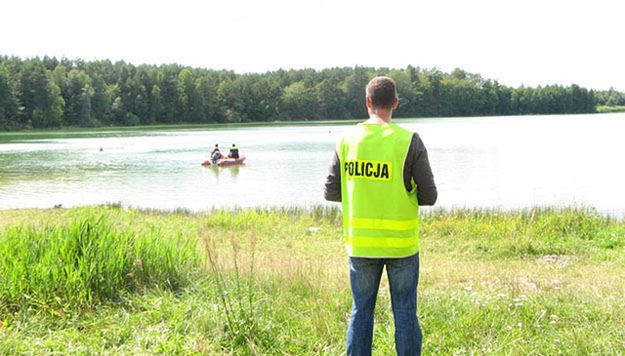
M 511 88 L 455 69 L 347 67 L 237 74 L 178 64 L 0 56 L 0 130 L 364 118 L 375 75 L 397 82 L 395 117 L 592 113 L 625 94 Z

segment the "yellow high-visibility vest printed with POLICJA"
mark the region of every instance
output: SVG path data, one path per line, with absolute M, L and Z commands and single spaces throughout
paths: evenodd
M 419 252 L 419 204 L 404 162 L 413 132 L 393 123 L 358 124 L 337 145 L 343 232 L 353 257 L 400 258 Z

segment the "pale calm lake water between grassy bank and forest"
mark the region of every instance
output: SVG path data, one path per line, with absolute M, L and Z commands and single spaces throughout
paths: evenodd
M 437 206 L 625 212 L 625 114 L 402 119 L 418 132 Z M 311 206 L 352 123 L 0 134 L 0 209 L 121 203 L 193 211 Z M 200 163 L 236 143 L 244 166 Z M 100 151 L 100 149 L 102 149 Z

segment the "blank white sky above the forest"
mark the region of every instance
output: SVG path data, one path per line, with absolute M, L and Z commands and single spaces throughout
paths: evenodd
M 625 91 L 622 0 L 1 0 L 0 54 L 239 73 L 461 68 Z

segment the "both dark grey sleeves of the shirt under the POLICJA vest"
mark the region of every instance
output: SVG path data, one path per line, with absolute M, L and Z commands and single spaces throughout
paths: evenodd
M 412 190 L 413 181 L 417 188 L 419 205 L 434 205 L 438 198 L 438 191 L 434 183 L 428 151 L 416 133 L 412 136 L 404 162 L 404 186 L 407 191 Z M 341 201 L 341 162 L 336 152 L 326 178 L 324 196 L 329 201 Z

